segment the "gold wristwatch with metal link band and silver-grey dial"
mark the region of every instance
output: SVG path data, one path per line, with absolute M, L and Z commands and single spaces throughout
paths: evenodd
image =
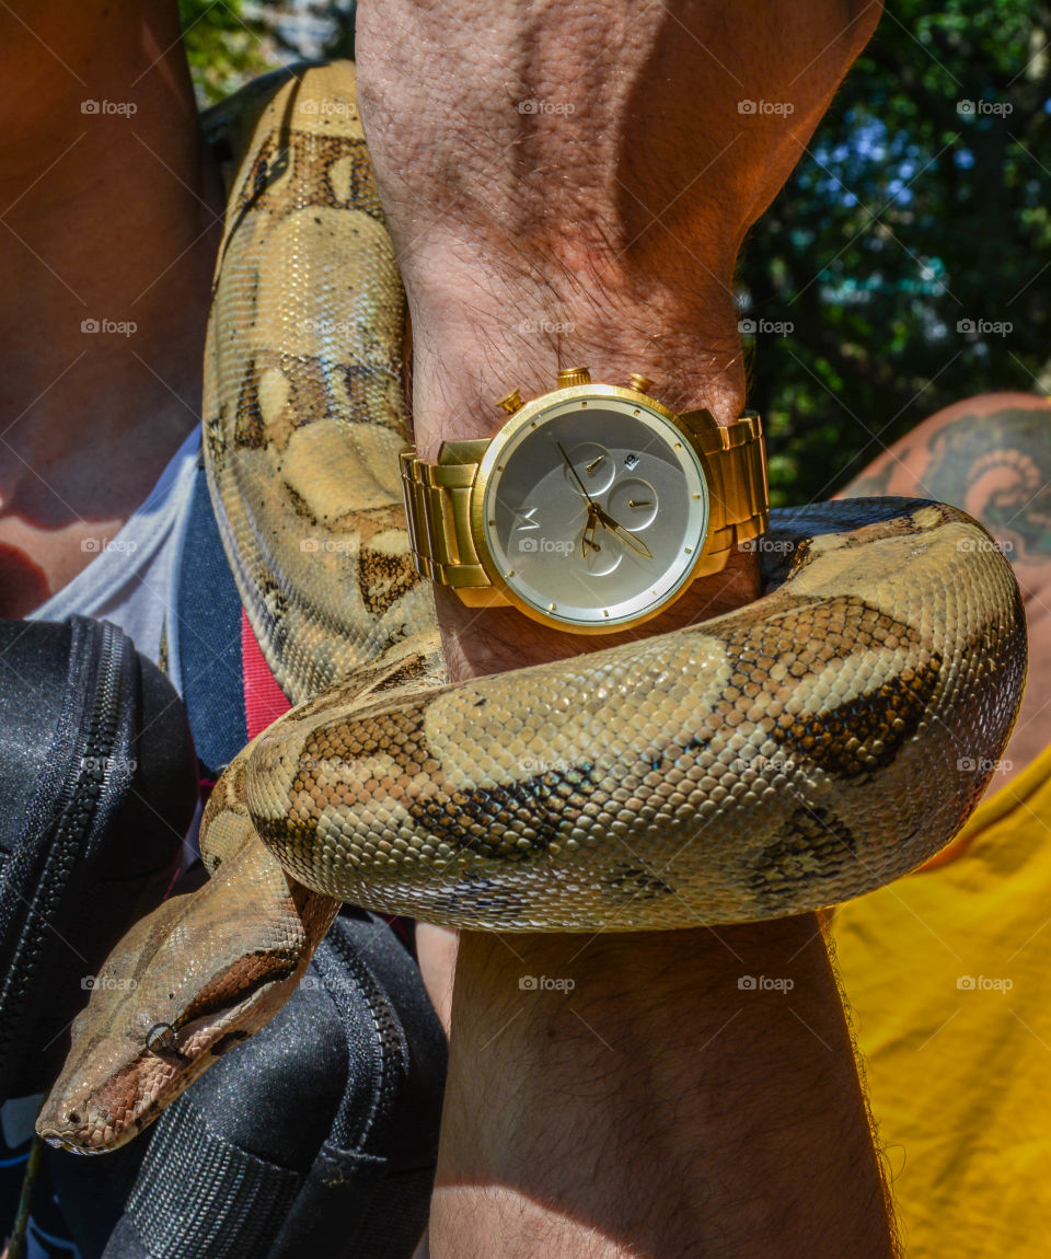
M 446 442 L 438 462 L 400 454 L 418 570 L 468 607 L 511 604 L 573 633 L 642 624 L 768 525 L 763 428 L 676 414 L 652 381 L 558 389 L 497 405 L 488 439 Z

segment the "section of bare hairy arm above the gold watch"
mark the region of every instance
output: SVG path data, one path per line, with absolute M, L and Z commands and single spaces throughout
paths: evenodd
M 575 361 L 735 419 L 736 254 L 872 8 L 768 0 L 743 24 L 733 0 L 363 6 L 420 452 L 490 436 L 506 388 L 550 388 Z M 764 98 L 787 112 L 740 112 Z

